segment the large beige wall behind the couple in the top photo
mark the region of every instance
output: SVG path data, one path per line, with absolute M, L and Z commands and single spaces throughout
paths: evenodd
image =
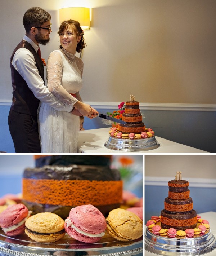
M 9 58 L 24 35 L 24 12 L 37 5 L 52 15 L 52 41 L 41 47 L 47 59 L 59 44 L 59 8 L 78 3 L 93 8 L 82 57 L 84 101 L 134 94 L 143 103 L 216 103 L 215 0 L 1 0 L 0 101 L 12 98 Z

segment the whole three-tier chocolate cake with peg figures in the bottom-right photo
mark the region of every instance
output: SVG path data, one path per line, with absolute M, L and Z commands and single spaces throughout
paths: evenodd
M 193 210 L 193 200 L 188 189 L 189 182 L 181 179 L 177 172 L 175 180 L 168 182 L 169 195 L 165 198 L 161 211 L 161 227 L 177 230 L 193 229 L 197 225 L 197 213 Z

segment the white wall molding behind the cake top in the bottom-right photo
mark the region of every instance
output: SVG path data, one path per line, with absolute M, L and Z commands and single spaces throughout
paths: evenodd
M 145 186 L 166 186 L 168 181 L 173 180 L 174 177 L 152 177 L 145 176 Z M 189 187 L 208 187 L 216 188 L 216 179 L 206 178 L 186 178 L 189 180 Z

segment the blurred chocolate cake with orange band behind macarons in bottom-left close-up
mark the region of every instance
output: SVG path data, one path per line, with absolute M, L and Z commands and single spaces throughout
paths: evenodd
M 111 169 L 109 155 L 39 155 L 36 168 L 23 174 L 23 203 L 33 211 L 62 218 L 72 207 L 92 204 L 104 215 L 122 200 L 120 173 Z M 48 165 L 44 165 L 48 164 Z

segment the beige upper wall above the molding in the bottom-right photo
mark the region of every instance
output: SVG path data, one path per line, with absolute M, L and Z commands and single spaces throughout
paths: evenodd
M 216 179 L 216 155 L 145 155 L 145 176 Z

